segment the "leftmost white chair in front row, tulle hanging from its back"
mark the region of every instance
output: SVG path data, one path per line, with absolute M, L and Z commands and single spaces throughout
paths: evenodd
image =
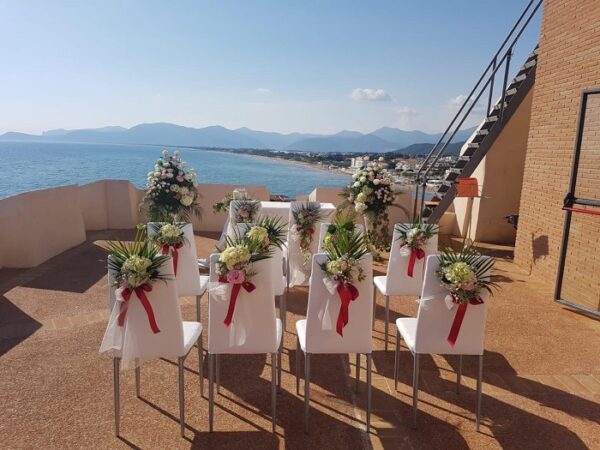
M 160 329 L 153 333 L 149 325 L 148 315 L 136 294 L 132 294 L 127 302 L 127 312 L 122 329 L 117 329 L 118 334 L 111 334 L 109 330 L 105 335 L 101 351 L 112 350 L 113 354 L 113 381 L 114 381 L 114 407 L 115 407 L 115 434 L 120 433 L 120 393 L 119 372 L 121 361 L 124 367 L 135 365 L 135 390 L 140 398 L 140 363 L 154 358 L 177 358 L 179 367 L 179 423 L 181 436 L 185 434 L 185 398 L 184 398 L 184 361 L 194 344 L 198 343 L 198 359 L 200 374 L 200 389 L 202 391 L 202 324 L 199 322 L 183 322 L 181 310 L 177 301 L 177 287 L 173 280 L 173 264 L 165 262 L 160 269 L 167 279 L 159 280 L 152 285 L 152 291 L 146 292 L 146 297 L 156 318 Z M 109 280 L 112 280 L 109 269 Z M 109 303 L 111 311 L 116 302 L 115 288 L 109 288 Z M 115 312 L 111 315 L 111 324 L 116 327 Z

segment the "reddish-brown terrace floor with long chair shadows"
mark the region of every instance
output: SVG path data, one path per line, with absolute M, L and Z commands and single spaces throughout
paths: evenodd
M 200 396 L 192 352 L 186 361 L 185 439 L 179 436 L 177 367 L 163 360 L 142 368 L 141 399 L 135 398 L 133 373 L 122 374 L 122 437 L 117 438 L 111 358 L 98 353 L 108 316 L 100 244 L 115 236 L 131 233 L 91 233 L 86 243 L 36 268 L 0 270 L 0 447 L 600 448 L 600 321 L 556 305 L 552 283 L 532 281 L 502 258 L 496 265 L 502 290 L 493 297 L 488 316 L 480 433 L 474 423 L 475 358 L 465 358 L 459 395 L 454 392 L 456 359 L 422 358 L 419 424 L 416 430 L 409 427 L 412 357 L 403 349 L 401 384 L 395 392 L 394 347 L 383 351 L 380 297 L 371 433 L 364 431 L 365 371 L 354 393 L 349 378 L 354 355 L 328 355 L 312 360 L 311 431 L 305 435 L 303 398 L 295 394 L 293 374 L 294 323 L 306 312 L 307 290 L 297 288 L 288 297 L 275 434 L 267 357 L 222 359 L 215 431 L 209 433 L 208 402 Z M 211 251 L 216 237 L 197 236 L 200 255 Z M 383 273 L 385 266 L 376 270 Z M 193 303 L 183 303 L 188 320 L 195 317 Z M 414 315 L 416 309 L 414 298 L 391 299 L 394 320 Z

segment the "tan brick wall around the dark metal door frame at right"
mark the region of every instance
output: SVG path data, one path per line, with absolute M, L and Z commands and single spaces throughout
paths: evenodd
M 581 91 L 600 87 L 600 1 L 544 3 L 515 261 L 535 277 L 554 283 L 564 220 L 561 206 L 569 185 Z M 599 198 L 600 103 L 590 107 L 596 112 L 586 127 L 580 189 L 582 195 Z M 577 216 L 563 298 L 598 309 L 599 254 L 599 218 Z

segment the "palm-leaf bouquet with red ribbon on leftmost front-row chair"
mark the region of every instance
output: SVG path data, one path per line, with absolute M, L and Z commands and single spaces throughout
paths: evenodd
M 152 284 L 160 279 L 166 279 L 160 274 L 159 268 L 170 258 L 162 255 L 157 244 L 145 236 L 146 228 L 138 225 L 135 240 L 132 243 L 111 241 L 107 244 L 109 259 L 108 267 L 111 275 L 111 285 L 117 287 L 116 297 L 119 307 L 118 326 L 125 324 L 127 305 L 132 294 L 138 297 L 146 314 L 153 333 L 160 329 L 154 317 L 152 305 L 146 297 L 146 292 L 152 291 Z

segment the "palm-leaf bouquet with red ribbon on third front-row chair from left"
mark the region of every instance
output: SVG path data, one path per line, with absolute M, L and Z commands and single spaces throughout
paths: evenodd
M 350 302 L 356 300 L 359 295 L 353 283 L 365 279 L 360 260 L 367 253 L 362 233 L 342 233 L 329 246 L 327 261 L 320 265 L 325 273 L 325 287 L 332 295 L 337 291 L 340 297 L 341 306 L 336 323 L 336 331 L 340 336 L 343 336 L 343 329 L 349 321 Z

